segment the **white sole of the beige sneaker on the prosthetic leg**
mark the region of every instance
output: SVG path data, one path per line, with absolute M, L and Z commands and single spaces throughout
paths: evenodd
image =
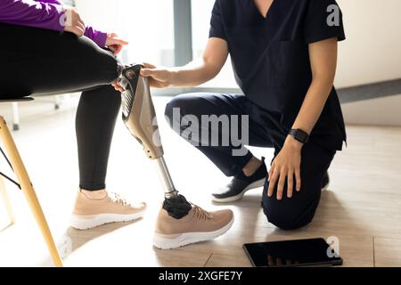
M 185 232 L 182 234 L 173 234 L 168 237 L 166 234 L 160 234 L 155 232 L 153 238 L 153 245 L 156 248 L 160 249 L 172 249 L 172 248 L 180 248 L 186 245 L 206 241 L 206 240 L 214 240 L 217 237 L 225 234 L 228 230 L 230 230 L 233 225 L 234 218 L 230 221 L 230 223 L 225 224 L 224 227 L 218 229 L 214 232 Z

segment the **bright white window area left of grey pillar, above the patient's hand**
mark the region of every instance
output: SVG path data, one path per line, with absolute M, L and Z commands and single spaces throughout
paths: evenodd
M 129 42 L 126 61 L 160 64 L 165 62 L 163 55 L 171 56 L 173 0 L 76 0 L 76 4 L 86 24 L 116 32 Z

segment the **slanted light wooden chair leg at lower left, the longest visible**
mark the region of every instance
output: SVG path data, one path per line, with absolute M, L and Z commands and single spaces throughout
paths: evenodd
M 28 200 L 29 208 L 31 209 L 33 216 L 37 220 L 40 231 L 45 239 L 47 248 L 49 249 L 50 255 L 53 259 L 53 264 L 57 267 L 62 266 L 59 252 L 55 246 L 52 232 L 50 232 L 49 225 L 46 222 L 45 215 L 43 214 L 42 208 L 40 207 L 37 199 L 37 194 L 30 182 L 27 170 L 20 159 L 20 153 L 17 150 L 10 130 L 6 126 L 5 120 L 0 116 L 0 139 L 4 142 L 5 150 L 8 154 L 14 173 L 20 183 L 21 190 L 23 191 L 26 199 Z

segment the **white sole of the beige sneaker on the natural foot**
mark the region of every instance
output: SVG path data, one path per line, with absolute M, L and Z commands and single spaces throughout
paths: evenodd
M 145 210 L 130 214 L 130 215 L 122 215 L 122 214 L 99 214 L 99 215 L 75 215 L 71 216 L 70 224 L 73 228 L 77 230 L 88 230 L 94 227 L 100 226 L 102 224 L 111 224 L 111 223 L 122 223 L 134 221 L 143 217 Z

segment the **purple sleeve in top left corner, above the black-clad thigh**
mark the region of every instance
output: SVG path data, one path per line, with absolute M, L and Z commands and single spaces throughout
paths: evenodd
M 57 0 L 0 0 L 0 22 L 61 31 L 64 9 Z

